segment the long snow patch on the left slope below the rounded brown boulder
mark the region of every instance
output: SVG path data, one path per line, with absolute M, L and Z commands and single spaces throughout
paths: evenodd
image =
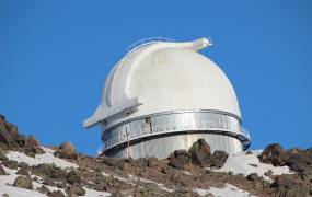
M 42 147 L 45 151 L 44 154 L 36 154 L 35 158 L 28 157 L 22 152 L 9 151 L 7 157 L 9 160 L 18 161 L 18 162 L 26 162 L 28 165 L 37 165 L 42 163 L 55 164 L 58 167 L 78 167 L 77 164 L 68 162 L 66 160 L 56 158 L 54 155 L 54 150 Z

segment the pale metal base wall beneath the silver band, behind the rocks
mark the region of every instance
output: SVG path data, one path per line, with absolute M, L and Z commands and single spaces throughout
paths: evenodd
M 164 159 L 175 150 L 188 150 L 192 144 L 200 138 L 207 141 L 211 148 L 211 152 L 216 150 L 222 150 L 228 153 L 243 151 L 241 141 L 230 136 L 207 132 L 178 132 L 169 136 L 145 138 L 137 142 L 130 141 L 129 148 L 127 143 L 124 143 L 108 151 L 104 151 L 104 153 L 114 158 L 127 158 L 130 155 L 132 159 L 148 157 Z

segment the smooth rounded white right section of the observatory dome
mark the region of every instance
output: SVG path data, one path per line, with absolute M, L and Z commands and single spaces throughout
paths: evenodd
M 143 103 L 131 116 L 213 109 L 241 116 L 226 74 L 208 58 L 188 48 L 161 48 L 145 56 L 126 82 L 126 94 Z

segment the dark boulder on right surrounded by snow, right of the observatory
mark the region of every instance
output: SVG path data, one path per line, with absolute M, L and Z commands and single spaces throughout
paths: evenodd
M 286 151 L 278 144 L 269 144 L 259 155 L 258 159 L 264 163 L 271 163 L 275 166 L 281 166 L 286 164 L 288 155 Z

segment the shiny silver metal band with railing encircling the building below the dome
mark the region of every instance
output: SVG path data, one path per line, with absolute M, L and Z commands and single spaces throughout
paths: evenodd
M 244 149 L 250 146 L 250 136 L 241 127 L 240 120 L 216 111 L 175 111 L 141 116 L 104 130 L 102 140 L 106 151 L 127 141 L 151 136 L 194 131 L 231 136 L 239 139 Z

